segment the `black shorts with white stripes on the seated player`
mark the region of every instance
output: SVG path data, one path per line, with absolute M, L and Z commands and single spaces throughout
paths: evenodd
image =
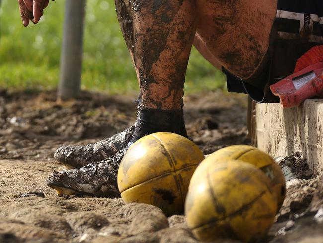
M 269 86 L 292 74 L 297 59 L 322 44 L 323 0 L 278 0 L 269 50 L 262 63 L 248 81 L 223 68 L 228 91 L 249 94 L 257 103 L 279 102 Z

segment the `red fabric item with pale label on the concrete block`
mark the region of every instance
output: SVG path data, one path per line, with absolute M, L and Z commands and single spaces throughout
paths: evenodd
M 323 97 L 323 45 L 300 57 L 294 73 L 270 86 L 284 108 L 295 107 L 310 97 Z

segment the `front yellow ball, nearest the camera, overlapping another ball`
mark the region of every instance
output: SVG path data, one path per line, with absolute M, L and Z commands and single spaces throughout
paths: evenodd
M 188 227 L 202 241 L 261 240 L 272 226 L 276 196 L 268 177 L 252 164 L 219 162 L 191 182 L 185 202 Z

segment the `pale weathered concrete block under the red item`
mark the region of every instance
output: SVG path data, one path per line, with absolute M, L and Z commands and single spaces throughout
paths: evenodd
M 296 108 L 281 104 L 256 105 L 258 148 L 273 157 L 295 152 L 315 172 L 323 172 L 323 99 L 308 99 Z

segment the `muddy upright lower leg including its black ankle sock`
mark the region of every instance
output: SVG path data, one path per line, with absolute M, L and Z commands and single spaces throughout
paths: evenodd
M 182 97 L 196 29 L 194 0 L 115 0 L 141 95 L 133 141 L 169 131 L 187 136 Z

